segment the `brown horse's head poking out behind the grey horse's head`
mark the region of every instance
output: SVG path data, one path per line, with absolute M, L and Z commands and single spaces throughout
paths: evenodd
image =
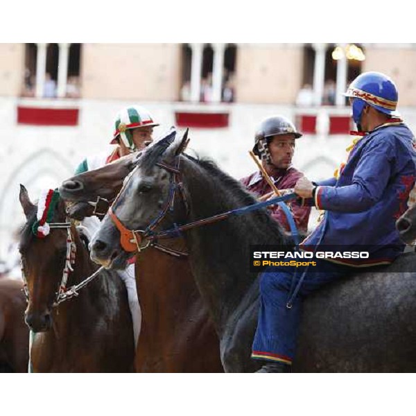
M 133 153 L 103 168 L 80 173 L 62 182 L 59 188 L 60 196 L 64 200 L 74 202 L 67 207 L 68 215 L 82 220 L 86 216 L 94 215 L 96 210 L 99 211 L 97 205 L 101 202 L 114 200 L 124 178 L 136 166 L 140 156 L 141 152 Z

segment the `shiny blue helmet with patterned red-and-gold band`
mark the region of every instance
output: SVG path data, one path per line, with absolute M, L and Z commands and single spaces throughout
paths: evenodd
M 361 114 L 367 104 L 384 114 L 397 115 L 397 87 L 390 77 L 381 72 L 361 73 L 352 81 L 344 95 L 354 98 L 352 118 L 356 125 L 360 124 Z

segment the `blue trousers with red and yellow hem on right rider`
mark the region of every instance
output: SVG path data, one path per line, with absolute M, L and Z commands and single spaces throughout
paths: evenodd
M 309 268 L 277 266 L 266 269 L 260 276 L 260 311 L 252 358 L 290 365 L 295 356 L 302 298 L 350 272 L 352 268 L 348 266 L 325 260 Z M 288 309 L 290 292 L 303 274 L 300 291 Z

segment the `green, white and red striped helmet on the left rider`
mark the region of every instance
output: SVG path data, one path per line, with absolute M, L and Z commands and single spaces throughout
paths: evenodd
M 153 121 L 153 117 L 148 110 L 139 105 L 132 105 L 131 107 L 125 107 L 119 112 L 116 117 L 115 131 L 111 144 L 117 144 L 118 138 L 123 140 L 125 146 L 131 150 L 135 150 L 135 144 L 132 140 L 132 133 L 128 130 L 138 127 L 154 127 L 159 125 Z

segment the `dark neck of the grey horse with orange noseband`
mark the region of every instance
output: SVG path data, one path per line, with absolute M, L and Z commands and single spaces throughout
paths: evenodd
M 191 207 L 187 222 L 255 202 L 217 168 L 187 160 L 182 170 Z M 286 238 L 266 211 L 254 211 L 195 227 L 187 232 L 187 243 L 194 277 L 221 332 L 257 277 L 249 270 L 250 245 L 284 244 Z

